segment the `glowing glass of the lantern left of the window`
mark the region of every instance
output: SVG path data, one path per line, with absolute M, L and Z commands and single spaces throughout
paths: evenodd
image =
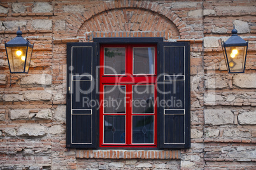
M 6 47 L 11 72 L 24 72 L 27 47 Z

